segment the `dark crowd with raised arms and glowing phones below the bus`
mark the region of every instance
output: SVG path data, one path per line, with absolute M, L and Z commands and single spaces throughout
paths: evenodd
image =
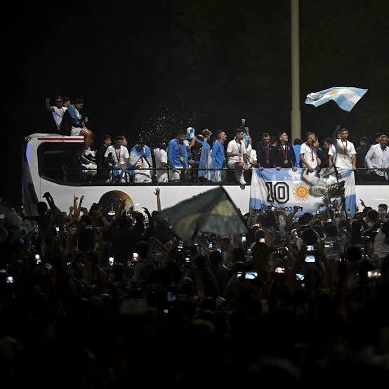
M 37 216 L 0 203 L 4 386 L 385 379 L 386 204 L 352 218 L 336 201 L 300 216 L 270 207 L 242 215 L 245 235 L 198 232 L 186 246 L 150 195 L 151 213 L 122 202 L 103 214 L 84 197 L 64 211 L 50 193 Z

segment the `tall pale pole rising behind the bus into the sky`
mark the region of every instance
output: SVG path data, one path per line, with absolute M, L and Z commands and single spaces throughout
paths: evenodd
M 291 0 L 291 141 L 301 138 L 298 0 Z

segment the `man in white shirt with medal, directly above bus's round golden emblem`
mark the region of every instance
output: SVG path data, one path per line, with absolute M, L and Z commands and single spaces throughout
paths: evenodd
M 107 164 L 110 164 L 112 170 L 110 171 L 110 181 L 126 182 L 126 169 L 128 159 L 127 147 L 123 145 L 124 136 L 116 136 L 113 146 L 108 146 L 105 152 L 104 159 Z

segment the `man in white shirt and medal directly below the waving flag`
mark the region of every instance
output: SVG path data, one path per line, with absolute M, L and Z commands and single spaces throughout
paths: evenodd
M 336 139 L 334 145 L 329 148 L 329 167 L 333 164 L 337 169 L 357 170 L 357 152 L 354 145 L 347 140 L 348 130 L 341 129 L 341 138 Z

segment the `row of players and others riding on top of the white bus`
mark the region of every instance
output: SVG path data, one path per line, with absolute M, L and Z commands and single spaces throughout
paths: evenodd
M 102 145 L 96 147 L 94 135 L 87 128 L 88 117 L 80 113 L 83 100 L 77 98 L 70 104 L 69 98 L 58 96 L 55 104 L 51 107 L 46 100 L 58 131 L 65 136 L 84 136 L 79 166 L 83 178 L 89 182 L 104 178 L 108 183 L 152 183 L 153 180 L 220 183 L 230 170 L 235 173 L 237 183 L 245 185 L 244 172 L 253 168 L 305 168 L 313 172 L 333 165 L 338 169 L 366 168 L 372 173 L 369 180 L 388 180 L 389 148 L 384 133 L 376 134 L 374 144 L 366 137 L 360 138 L 357 148 L 348 140 L 347 128 L 338 128 L 322 145 L 312 131 L 305 133 L 304 141 L 295 139 L 293 145 L 285 131 L 280 131 L 277 137 L 258 134 L 261 140 L 253 143 L 249 127 L 242 122 L 235 138 L 228 143 L 225 131 L 213 135 L 204 129 L 196 135 L 194 128 L 188 127 L 178 132 L 176 138 L 169 142 L 161 140 L 158 145 L 139 142 L 131 148 L 126 136 L 104 136 Z

